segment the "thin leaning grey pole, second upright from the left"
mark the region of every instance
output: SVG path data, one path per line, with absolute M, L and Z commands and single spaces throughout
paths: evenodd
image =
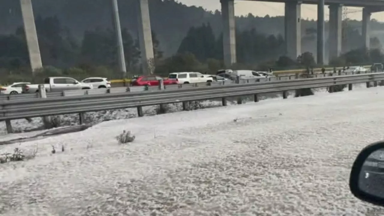
M 118 51 L 119 70 L 122 77 L 126 77 L 127 68 L 125 65 L 124 47 L 122 45 L 121 26 L 119 16 L 118 0 L 112 0 L 113 27 L 116 35 L 116 48 Z

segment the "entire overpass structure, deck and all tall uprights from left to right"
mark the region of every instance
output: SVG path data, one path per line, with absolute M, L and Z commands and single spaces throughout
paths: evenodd
M 117 1 L 112 2 L 114 13 L 114 27 L 118 39 L 119 62 L 121 71 L 125 71 L 124 52 L 122 51 L 121 30 Z M 152 73 L 154 70 L 154 53 L 152 48 L 151 22 L 149 20 L 149 0 L 139 1 L 139 42 L 141 49 L 143 73 Z M 217 0 L 218 1 L 218 0 Z M 301 54 L 301 4 L 318 5 L 318 64 L 324 63 L 324 5 L 329 5 L 329 58 L 337 57 L 341 53 L 341 22 L 342 7 L 363 7 L 361 47 L 369 48 L 369 21 L 374 12 L 384 11 L 384 0 L 258 0 L 263 2 L 285 3 L 285 55 L 296 59 Z M 234 0 L 220 0 L 223 18 L 223 60 L 227 67 L 236 63 L 236 37 L 235 37 L 235 7 Z M 36 27 L 34 22 L 31 0 L 20 0 L 28 52 L 31 68 L 41 68 L 40 49 L 38 46 Z M 282 53 L 283 54 L 283 53 Z

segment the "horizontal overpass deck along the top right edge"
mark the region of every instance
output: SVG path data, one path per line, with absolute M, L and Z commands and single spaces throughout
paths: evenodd
M 318 0 L 248 0 L 257 2 L 300 2 L 302 4 L 314 4 L 318 3 Z M 384 0 L 325 0 L 326 5 L 341 4 L 350 7 L 382 7 L 384 8 Z

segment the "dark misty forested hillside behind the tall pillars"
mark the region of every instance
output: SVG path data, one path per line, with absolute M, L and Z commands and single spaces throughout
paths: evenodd
M 138 2 L 118 2 L 127 70 L 137 73 L 140 71 L 140 51 L 136 40 Z M 223 66 L 222 18 L 219 11 L 207 12 L 203 8 L 187 7 L 174 0 L 151 0 L 149 7 L 158 73 L 192 69 L 210 71 Z M 116 71 L 111 1 L 33 0 L 33 9 L 43 65 L 63 69 L 51 71 L 53 74 L 110 75 Z M 0 20 L 0 76 L 24 76 L 29 73 L 29 60 L 20 1 L 2 0 Z M 361 22 L 343 22 L 343 51 L 359 48 L 362 40 Z M 287 66 L 287 61 L 278 61 L 285 54 L 284 17 L 248 14 L 237 17 L 236 26 L 237 66 Z M 325 28 L 327 31 L 328 23 Z M 384 24 L 372 21 L 371 29 L 374 36 L 380 38 Z M 301 51 L 315 54 L 316 22 L 303 20 L 301 33 Z M 378 38 L 371 39 L 371 47 L 381 50 Z M 326 55 L 327 45 L 328 42 Z M 276 61 L 280 63 L 276 64 Z M 288 62 L 293 65 L 297 63 L 296 60 Z M 80 73 L 78 69 L 86 72 Z

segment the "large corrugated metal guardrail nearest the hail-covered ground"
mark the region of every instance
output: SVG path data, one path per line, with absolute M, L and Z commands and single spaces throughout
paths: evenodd
M 257 95 L 259 93 L 286 92 L 300 88 L 318 88 L 324 86 L 344 85 L 384 80 L 384 73 L 367 73 L 361 75 L 328 76 L 286 81 L 239 83 L 235 85 L 204 86 L 201 88 L 165 89 L 162 91 L 122 92 L 96 95 L 60 96 L 50 98 L 27 98 L 24 100 L 6 100 L 1 102 L 0 120 L 32 118 L 38 116 L 84 113 L 100 110 L 113 110 L 137 107 L 142 116 L 142 106 L 162 105 L 188 101 L 207 100 L 226 97 Z M 350 88 L 351 89 L 351 88 Z M 255 100 L 256 101 L 256 100 Z M 141 113 L 140 113 L 141 112 Z

